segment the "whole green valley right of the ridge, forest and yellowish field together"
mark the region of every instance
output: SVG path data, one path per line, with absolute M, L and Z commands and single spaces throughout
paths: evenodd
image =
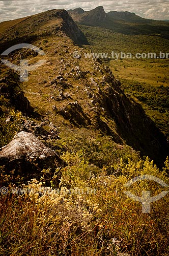
M 79 25 L 93 53 L 167 53 L 169 40 L 149 35 L 124 35 L 108 29 Z M 137 99 L 146 114 L 168 136 L 168 59 L 102 59 L 122 83 L 126 93 Z

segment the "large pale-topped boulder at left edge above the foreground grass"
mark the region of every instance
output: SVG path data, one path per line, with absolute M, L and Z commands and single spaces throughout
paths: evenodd
M 8 145 L 1 148 L 0 165 L 5 165 L 7 173 L 15 170 L 15 175 L 30 180 L 39 179 L 43 168 L 51 168 L 49 175 L 52 176 L 55 169 L 65 163 L 33 134 L 20 132 Z

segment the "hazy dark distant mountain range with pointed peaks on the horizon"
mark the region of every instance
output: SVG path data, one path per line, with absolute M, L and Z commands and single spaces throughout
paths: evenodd
M 144 34 L 169 38 L 167 22 L 145 19 L 130 12 L 110 11 L 105 13 L 102 6 L 84 13 L 73 11 L 71 10 L 69 13 L 79 24 L 102 27 L 127 35 Z

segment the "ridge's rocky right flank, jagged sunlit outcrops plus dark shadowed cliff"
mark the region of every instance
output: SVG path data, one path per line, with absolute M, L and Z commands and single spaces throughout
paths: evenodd
M 63 98 L 64 107 L 60 110 L 58 107 L 57 114 L 77 127 L 84 126 L 101 131 L 102 134 L 112 136 L 117 143 L 132 146 L 142 156 L 149 156 L 158 165 L 163 163 L 168 153 L 165 136 L 146 115 L 142 106 L 130 95 L 124 94 L 120 81 L 115 79 L 108 67 L 103 68 L 94 61 L 93 69 L 95 76 L 78 78 L 79 84 L 83 82 L 85 86 L 80 91 L 81 99 L 77 98 L 78 94 L 76 97 L 72 94 L 72 98 L 78 100 L 76 102 L 68 103 Z M 81 70 L 80 65 L 71 70 L 71 76 L 78 77 L 76 70 Z M 84 70 L 82 72 L 85 74 Z M 102 74 L 100 78 L 96 76 L 98 74 Z

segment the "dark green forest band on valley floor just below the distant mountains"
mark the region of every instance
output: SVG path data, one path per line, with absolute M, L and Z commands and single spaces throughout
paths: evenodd
M 125 52 L 136 54 L 137 52 L 166 53 L 169 41 L 158 36 L 150 35 L 124 35 L 112 32 L 109 29 L 78 25 L 87 37 L 92 52 Z

